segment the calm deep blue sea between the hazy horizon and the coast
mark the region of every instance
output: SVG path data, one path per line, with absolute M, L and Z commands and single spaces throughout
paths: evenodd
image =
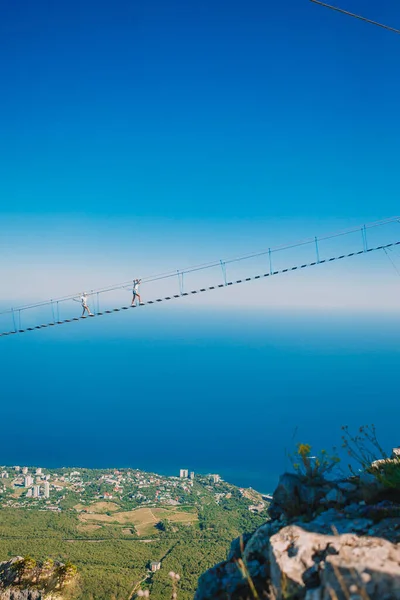
M 2 338 L 0 464 L 188 468 L 268 493 L 297 442 L 329 451 L 342 425 L 400 444 L 399 340 L 396 315 L 240 306 Z

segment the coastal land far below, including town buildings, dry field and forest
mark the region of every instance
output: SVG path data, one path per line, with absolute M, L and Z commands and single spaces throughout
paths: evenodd
M 78 573 L 71 598 L 124 600 L 151 591 L 164 600 L 178 573 L 179 597 L 190 600 L 204 567 L 241 531 L 262 525 L 268 506 L 267 496 L 215 472 L 0 466 L 0 553 L 7 573 L 15 560 L 35 565 L 35 573 L 68 565 Z

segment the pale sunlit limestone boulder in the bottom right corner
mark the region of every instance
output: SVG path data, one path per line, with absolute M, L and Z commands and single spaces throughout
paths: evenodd
M 286 527 L 270 539 L 270 565 L 276 600 L 306 598 L 309 589 L 319 590 L 321 600 L 348 600 L 350 594 L 400 600 L 400 547 L 387 540 Z

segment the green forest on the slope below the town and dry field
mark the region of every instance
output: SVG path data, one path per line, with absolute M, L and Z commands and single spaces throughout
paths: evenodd
M 199 575 L 226 557 L 232 539 L 266 519 L 248 510 L 249 501 L 237 488 L 229 489 L 229 498 L 217 503 L 213 493 L 199 485 L 198 521 L 187 525 L 166 519 L 148 539 L 117 523 L 82 531 L 72 502 L 54 513 L 1 508 L 0 560 L 29 555 L 39 561 L 71 562 L 78 579 L 70 594 L 79 600 L 128 600 L 138 589 L 148 589 L 152 600 L 165 600 L 172 593 L 168 573 L 174 571 L 180 575 L 178 599 L 189 600 Z M 151 561 L 161 561 L 161 569 L 151 573 Z

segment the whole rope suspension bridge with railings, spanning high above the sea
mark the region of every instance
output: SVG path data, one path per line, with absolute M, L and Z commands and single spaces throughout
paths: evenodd
M 132 291 L 132 279 L 105 288 L 88 291 L 88 305 L 93 314 L 74 316 L 73 301 L 82 294 L 71 294 L 43 302 L 37 302 L 0 312 L 0 324 L 9 323 L 9 328 L 0 332 L 0 337 L 27 333 L 43 328 L 93 319 L 120 311 L 140 310 L 145 306 L 178 300 L 196 294 L 236 286 L 251 281 L 265 280 L 301 271 L 311 267 L 322 267 L 334 261 L 343 261 L 361 255 L 381 251 L 386 254 L 400 276 L 396 259 L 400 258 L 400 217 L 368 223 L 359 227 L 341 230 L 324 236 L 314 236 L 288 245 L 267 248 L 227 260 L 195 265 L 149 277 L 142 277 L 143 298 L 136 305 L 115 306 L 122 290 Z M 238 267 L 240 276 L 237 277 Z M 235 277 L 236 274 L 236 277 Z M 193 276 L 203 277 L 198 286 L 190 285 Z M 207 285 L 204 284 L 204 277 Z M 151 294 L 153 290 L 154 295 Z M 105 301 L 108 297 L 108 302 Z M 112 302 L 110 303 L 110 297 Z M 73 309 L 75 306 L 75 311 Z M 104 308 L 103 308 L 104 306 Z M 47 319 L 46 319 L 47 315 Z M 3 325 L 1 325 L 3 328 Z

